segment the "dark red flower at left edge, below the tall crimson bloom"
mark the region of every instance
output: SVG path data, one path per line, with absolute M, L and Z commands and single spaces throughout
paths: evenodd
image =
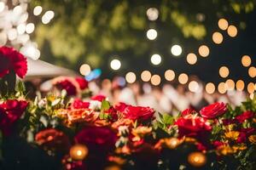
M 26 110 L 26 105 L 26 101 L 17 99 L 10 99 L 0 104 L 0 129 L 5 135 L 10 133 L 12 125 Z

